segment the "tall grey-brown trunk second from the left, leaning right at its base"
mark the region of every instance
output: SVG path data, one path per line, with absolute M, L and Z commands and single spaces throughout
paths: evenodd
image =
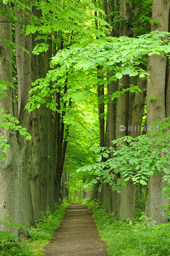
M 29 23 L 29 15 L 31 15 L 31 10 L 26 10 L 27 14 L 22 14 L 22 10 L 16 10 L 16 18 L 25 18 L 25 23 Z M 27 128 L 29 131 L 29 112 L 24 109 L 26 103 L 28 102 L 28 94 L 31 89 L 31 44 L 32 36 L 31 34 L 25 35 L 24 32 L 20 33 L 20 25 L 15 25 L 15 42 L 16 44 L 24 47 L 29 53 L 24 52 L 21 48 L 16 47 L 16 66 L 17 66 L 17 78 L 18 78 L 18 118 L 19 124 Z M 25 137 L 18 135 L 18 142 L 21 148 L 21 172 L 23 173 L 23 197 L 24 197 L 24 214 L 27 227 L 35 225 L 33 217 L 33 205 L 31 198 L 31 190 L 28 179 L 28 166 L 29 166 L 29 156 L 30 156 L 30 142 L 26 141 Z M 21 206 L 22 208 L 23 206 Z

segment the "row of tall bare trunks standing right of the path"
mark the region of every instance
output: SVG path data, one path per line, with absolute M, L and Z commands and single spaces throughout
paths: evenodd
M 112 1 L 113 2 L 113 1 Z M 111 2 L 111 5 L 113 4 Z M 143 1 L 141 1 L 140 4 Z M 152 12 L 148 13 L 152 20 L 158 22 L 152 22 L 151 27 L 149 23 L 145 26 L 146 33 L 148 31 L 159 30 L 169 31 L 169 1 L 153 1 Z M 109 1 L 104 1 L 104 11 L 110 15 L 111 10 L 114 8 L 109 4 Z M 120 1 L 120 17 L 121 21 L 119 24 L 119 36 L 133 36 L 136 37 L 136 33 L 133 31 L 133 16 L 140 15 L 140 7 L 134 6 L 132 2 L 122 0 Z M 150 10 L 151 11 L 151 10 Z M 126 20 L 126 23 L 124 22 Z M 151 30 L 150 30 L 151 29 Z M 112 30 L 112 33 L 116 34 L 116 29 Z M 133 58 L 133 57 L 132 57 Z M 133 60 L 132 60 L 133 61 Z M 141 64 L 142 65 L 142 64 Z M 142 67 L 142 66 L 141 66 Z M 144 69 L 146 69 L 144 67 Z M 122 76 L 120 83 L 113 82 L 107 85 L 107 94 L 110 95 L 116 90 L 121 91 L 121 88 L 130 87 L 131 84 L 136 83 L 138 88 L 142 92 L 138 92 L 135 95 L 133 93 L 125 92 L 117 98 L 117 103 L 112 104 L 111 99 L 107 104 L 107 131 L 106 141 L 102 142 L 102 147 L 112 146 L 111 141 L 121 138 L 123 136 L 130 135 L 136 138 L 141 134 L 140 129 L 135 127 L 141 127 L 143 115 L 144 115 L 144 103 L 146 101 L 146 124 L 147 127 L 153 121 L 162 121 L 165 117 L 170 116 L 169 112 L 169 60 L 166 56 L 158 56 L 153 54 L 148 58 L 147 70 L 150 76 L 141 80 L 138 76 L 130 79 L 129 76 Z M 156 97 L 156 100 L 152 100 L 152 97 Z M 120 131 L 120 126 L 134 127 L 134 129 L 128 131 Z M 100 132 L 100 137 L 104 138 L 103 133 Z M 109 156 L 113 157 L 113 156 Z M 121 174 L 120 174 L 121 175 Z M 167 214 L 163 215 L 162 205 L 168 204 L 168 198 L 163 199 L 162 189 L 165 186 L 165 182 L 162 181 L 162 174 L 158 176 L 156 174 L 151 175 L 149 178 L 149 193 L 147 198 L 145 215 L 155 220 L 156 223 L 166 223 Z M 122 192 L 117 194 L 115 191 L 103 184 L 102 195 L 108 193 L 107 208 L 108 210 L 117 212 L 117 216 L 120 218 L 134 219 L 135 217 L 135 195 L 136 186 L 133 180 L 129 180 L 126 186 L 122 187 Z M 101 195 L 100 204 L 103 203 Z M 105 197 L 106 198 L 106 197 Z

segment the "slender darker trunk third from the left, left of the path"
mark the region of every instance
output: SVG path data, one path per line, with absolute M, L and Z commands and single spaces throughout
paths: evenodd
M 33 7 L 33 15 L 41 17 L 41 10 L 37 10 Z M 37 43 L 35 41 L 38 33 L 32 35 L 32 51 Z M 43 68 L 43 54 L 34 55 L 32 53 L 31 59 L 31 82 L 35 82 L 37 78 L 44 77 Z M 30 118 L 30 132 L 31 132 L 31 147 L 30 147 L 30 166 L 29 166 L 29 182 L 31 189 L 31 196 L 33 202 L 33 212 L 35 220 L 40 218 L 40 212 L 42 211 L 41 204 L 41 141 L 40 141 L 40 109 L 35 108 L 31 113 Z

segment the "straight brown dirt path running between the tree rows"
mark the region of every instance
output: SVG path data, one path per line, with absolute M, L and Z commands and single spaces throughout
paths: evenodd
M 46 256 L 107 256 L 92 213 L 87 206 L 71 204 L 60 228 L 45 247 Z

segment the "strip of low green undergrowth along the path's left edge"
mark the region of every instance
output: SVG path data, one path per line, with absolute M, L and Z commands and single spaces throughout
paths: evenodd
M 9 232 L 0 232 L 1 256 L 42 256 L 43 248 L 53 238 L 53 233 L 63 219 L 68 203 L 56 206 L 55 211 L 42 212 L 41 219 L 36 221 L 36 228 L 30 228 L 31 239 L 18 242 Z

